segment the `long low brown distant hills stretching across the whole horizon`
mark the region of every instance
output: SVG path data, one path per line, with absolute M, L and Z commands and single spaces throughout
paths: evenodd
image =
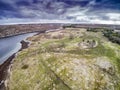
M 106 24 L 63 24 L 63 23 L 47 23 L 47 24 L 17 24 L 17 25 L 0 25 L 0 38 L 12 36 L 28 32 L 45 32 L 46 30 L 63 28 L 108 28 L 120 30 L 120 25 Z

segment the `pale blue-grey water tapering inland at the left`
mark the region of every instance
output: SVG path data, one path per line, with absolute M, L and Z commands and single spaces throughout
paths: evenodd
M 0 39 L 0 64 L 21 49 L 21 41 L 36 33 L 27 33 Z

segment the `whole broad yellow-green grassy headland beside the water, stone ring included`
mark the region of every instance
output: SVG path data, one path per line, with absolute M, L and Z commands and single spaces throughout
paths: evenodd
M 10 90 L 120 90 L 120 46 L 102 33 L 71 28 L 29 40 L 14 59 Z

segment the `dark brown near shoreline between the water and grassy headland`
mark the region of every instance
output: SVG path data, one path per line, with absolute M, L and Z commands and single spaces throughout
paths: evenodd
M 26 39 L 20 42 L 21 49 L 18 52 L 29 47 L 30 42 L 28 42 Z M 11 67 L 12 61 L 18 52 L 11 55 L 3 64 L 0 65 L 0 90 L 6 90 L 8 88 L 5 85 L 5 81 L 7 80 L 7 77 L 9 77 L 9 68 Z

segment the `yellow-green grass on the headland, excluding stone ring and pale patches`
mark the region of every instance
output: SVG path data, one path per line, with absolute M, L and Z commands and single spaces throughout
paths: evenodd
M 95 34 L 97 35 L 97 33 Z M 71 88 L 73 90 L 80 90 L 80 87 L 86 89 L 86 82 L 89 83 L 89 81 L 86 81 L 85 78 L 87 75 L 89 77 L 89 74 L 95 78 L 95 81 L 90 81 L 90 87 L 94 89 L 89 90 L 99 90 L 101 85 L 107 86 L 104 83 L 105 77 L 101 76 L 103 71 L 95 68 L 93 63 L 98 57 L 108 57 L 108 60 L 116 67 L 115 69 L 118 71 L 116 73 L 120 75 L 120 56 L 117 56 L 115 52 L 120 47 L 113 45 L 116 49 L 111 48 L 108 42 L 100 37 L 102 36 L 95 36 L 92 33 L 88 33 L 82 37 L 74 37 L 73 39 L 69 39 L 69 37 L 47 39 L 42 43 L 37 43 L 37 45 L 33 42 L 35 47 L 31 46 L 23 50 L 15 58 L 12 68 L 13 74 L 9 85 L 10 90 L 71 90 Z M 82 42 L 83 39 L 96 40 L 98 46 L 88 50 L 81 49 L 77 44 Z M 61 48 L 59 52 L 57 51 L 58 48 Z M 87 70 L 87 75 L 79 71 L 82 70 L 81 65 Z M 78 71 L 74 70 L 76 66 L 80 66 L 80 68 L 77 68 Z M 70 70 L 74 72 L 69 73 Z M 116 78 L 115 76 L 108 75 L 108 73 L 104 74 L 110 80 Z M 78 80 L 72 80 L 72 77 L 76 76 L 79 77 Z M 115 86 L 115 90 L 119 89 L 120 85 L 118 84 Z

